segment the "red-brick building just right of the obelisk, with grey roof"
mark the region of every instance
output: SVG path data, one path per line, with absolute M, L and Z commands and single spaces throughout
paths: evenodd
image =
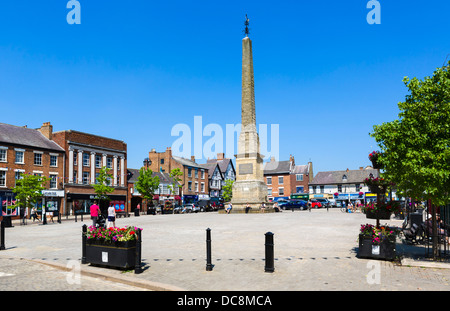
M 291 198 L 309 198 L 308 184 L 312 181 L 312 162 L 295 165 L 294 156 L 287 161 L 276 161 L 274 157 L 264 163 L 264 181 L 271 201 Z

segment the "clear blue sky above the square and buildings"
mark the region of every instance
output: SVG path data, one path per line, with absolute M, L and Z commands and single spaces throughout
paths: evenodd
M 0 2 L 0 122 L 124 140 L 130 168 L 194 116 L 240 122 L 245 14 L 257 123 L 279 124 L 281 160 L 315 173 L 369 165 L 369 132 L 397 118 L 403 77 L 450 54 L 443 0 L 379 0 L 380 25 L 368 0 L 79 0 L 80 25 L 67 2 Z

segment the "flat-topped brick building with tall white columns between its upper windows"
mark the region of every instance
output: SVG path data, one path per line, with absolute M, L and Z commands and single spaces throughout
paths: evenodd
M 121 140 L 65 130 L 53 133 L 53 140 L 65 150 L 66 214 L 89 214 L 95 198 L 94 188 L 102 167 L 113 175 L 108 194 L 118 212 L 127 210 L 127 144 Z M 100 205 L 102 211 L 106 204 Z

